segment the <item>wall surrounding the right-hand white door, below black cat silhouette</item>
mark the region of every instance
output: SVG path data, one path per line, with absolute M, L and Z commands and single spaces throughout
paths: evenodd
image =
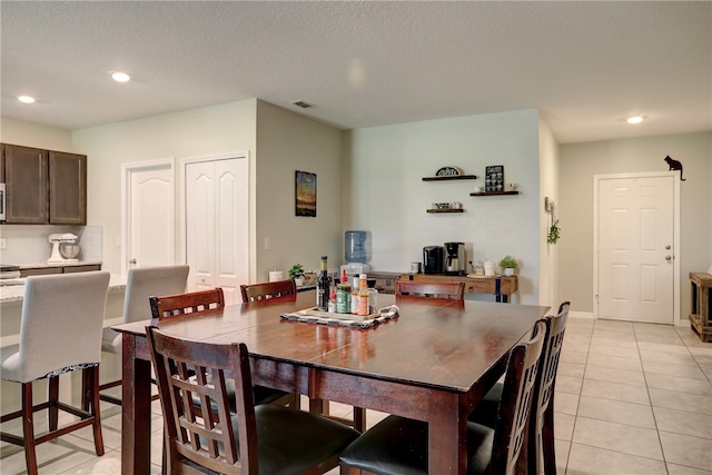
M 572 310 L 593 311 L 593 176 L 666 171 L 670 156 L 684 167 L 680 190 L 681 320 L 690 314 L 691 271 L 712 264 L 712 132 L 561 146 L 560 295 Z

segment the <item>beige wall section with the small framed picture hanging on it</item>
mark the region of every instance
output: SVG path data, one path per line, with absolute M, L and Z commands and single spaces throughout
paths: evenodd
M 342 142 L 344 132 L 270 103 L 257 102 L 257 276 L 342 263 Z M 316 174 L 316 217 L 295 216 L 295 171 Z M 269 238 L 270 249 L 264 240 Z

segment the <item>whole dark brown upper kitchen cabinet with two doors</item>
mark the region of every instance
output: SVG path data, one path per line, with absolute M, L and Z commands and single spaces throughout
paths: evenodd
M 6 224 L 87 224 L 87 156 L 4 144 L 0 168 Z

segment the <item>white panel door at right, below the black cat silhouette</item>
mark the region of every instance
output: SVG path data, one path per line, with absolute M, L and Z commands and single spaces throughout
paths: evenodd
M 673 179 L 599 181 L 599 317 L 673 323 Z

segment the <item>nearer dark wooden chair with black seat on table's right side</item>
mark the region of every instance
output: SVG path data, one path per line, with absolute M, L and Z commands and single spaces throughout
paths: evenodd
M 540 320 L 528 342 L 516 345 L 507 363 L 502 404 L 495 428 L 467 423 L 467 473 L 511 474 L 526 439 L 545 323 Z M 428 473 L 428 425 L 388 416 L 350 444 L 340 456 L 340 473 L 358 471 L 386 475 Z

